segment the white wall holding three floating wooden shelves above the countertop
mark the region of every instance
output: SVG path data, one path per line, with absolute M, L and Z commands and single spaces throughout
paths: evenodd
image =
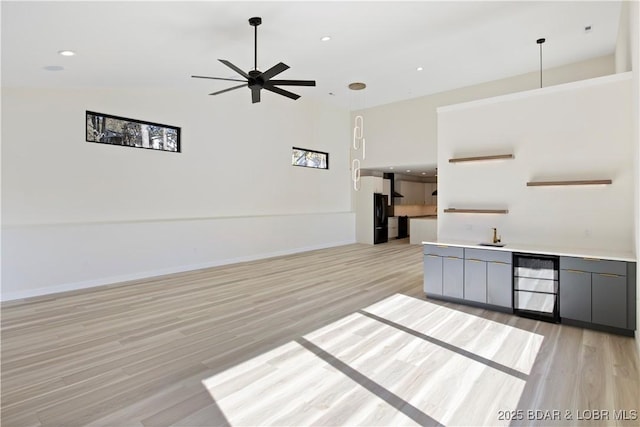
M 438 110 L 438 239 L 634 252 L 631 73 Z M 513 160 L 449 163 L 514 154 Z M 527 187 L 535 180 L 607 186 Z M 507 215 L 445 208 L 508 209 Z

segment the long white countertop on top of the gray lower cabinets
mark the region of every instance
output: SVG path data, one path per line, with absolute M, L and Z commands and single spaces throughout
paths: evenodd
M 424 241 L 423 245 L 440 245 L 440 246 L 454 246 L 459 248 L 473 248 L 473 249 L 489 249 L 492 251 L 507 251 L 507 252 L 523 252 L 539 255 L 557 255 L 557 256 L 572 256 L 583 258 L 599 258 L 608 259 L 612 261 L 626 261 L 636 262 L 636 256 L 633 252 L 621 252 L 621 251 L 608 251 L 597 249 L 579 249 L 579 248 L 562 248 L 558 246 L 543 246 L 543 245 L 527 245 L 527 244 L 509 244 L 505 246 L 482 246 L 478 242 L 469 242 L 463 240 L 447 240 L 447 241 Z

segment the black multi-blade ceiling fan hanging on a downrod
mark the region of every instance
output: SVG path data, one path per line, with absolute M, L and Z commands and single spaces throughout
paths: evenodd
M 197 79 L 213 79 L 213 80 L 226 80 L 232 82 L 243 82 L 243 84 L 238 86 L 233 86 L 227 89 L 219 90 L 217 92 L 210 93 L 209 95 L 219 95 L 224 92 L 229 92 L 235 89 L 239 89 L 241 87 L 248 87 L 251 89 L 251 102 L 256 103 L 260 102 L 260 91 L 262 89 L 266 89 L 270 92 L 277 93 L 278 95 L 286 96 L 291 99 L 298 99 L 300 95 L 297 95 L 293 92 L 289 92 L 288 90 L 281 89 L 277 86 L 315 86 L 315 80 L 272 80 L 273 77 L 282 73 L 286 69 L 289 68 L 287 64 L 283 64 L 279 62 L 273 67 L 269 68 L 267 71 L 259 71 L 258 70 L 258 25 L 262 24 L 262 18 L 254 17 L 249 19 L 249 24 L 254 27 L 254 51 L 253 51 L 253 70 L 249 72 L 244 72 L 239 67 L 233 65 L 231 62 L 226 59 L 218 59 L 218 61 L 222 62 L 227 67 L 231 68 L 236 73 L 240 74 L 246 80 L 239 79 L 227 79 L 223 77 L 207 77 L 207 76 L 191 76 Z

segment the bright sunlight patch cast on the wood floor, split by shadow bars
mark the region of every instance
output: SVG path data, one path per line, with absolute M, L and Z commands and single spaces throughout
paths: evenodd
M 233 426 L 501 425 L 542 340 L 396 294 L 203 385 Z

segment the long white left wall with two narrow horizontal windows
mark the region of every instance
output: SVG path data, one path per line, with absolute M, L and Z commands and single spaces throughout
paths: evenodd
M 3 88 L 2 298 L 355 241 L 349 113 L 240 92 Z M 182 153 L 85 142 L 85 110 L 180 126 Z

